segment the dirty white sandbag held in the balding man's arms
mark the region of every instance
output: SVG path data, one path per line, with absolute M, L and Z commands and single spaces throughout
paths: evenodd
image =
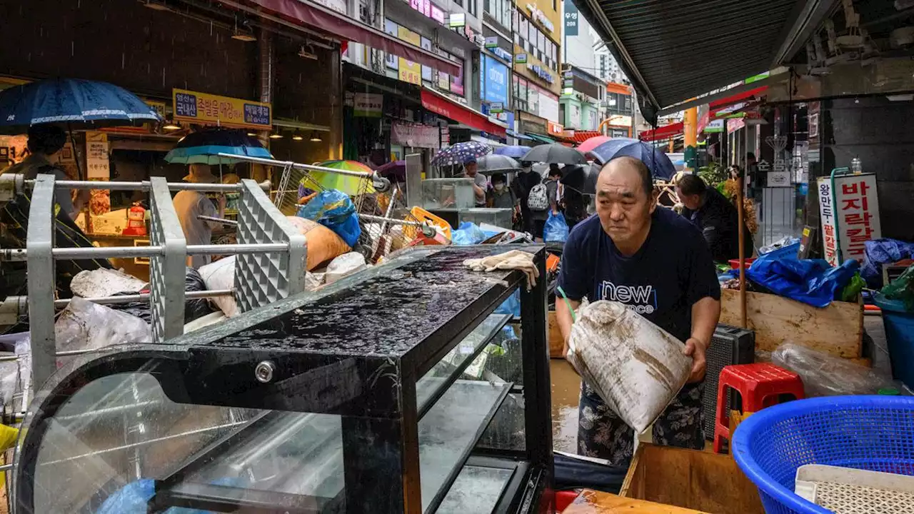
M 568 359 L 638 434 L 664 412 L 692 369 L 681 341 L 607 300 L 580 307 L 571 326 Z

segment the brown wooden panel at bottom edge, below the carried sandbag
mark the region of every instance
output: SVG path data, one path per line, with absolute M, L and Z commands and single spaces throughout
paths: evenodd
M 711 514 L 764 514 L 759 490 L 728 455 L 639 444 L 619 496 Z

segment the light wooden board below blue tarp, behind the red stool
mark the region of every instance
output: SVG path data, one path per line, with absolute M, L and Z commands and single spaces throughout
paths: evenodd
M 720 322 L 739 327 L 739 291 L 720 292 Z M 746 318 L 755 330 L 755 348 L 773 351 L 784 341 L 834 357 L 863 354 L 863 305 L 832 302 L 824 309 L 776 294 L 746 293 Z

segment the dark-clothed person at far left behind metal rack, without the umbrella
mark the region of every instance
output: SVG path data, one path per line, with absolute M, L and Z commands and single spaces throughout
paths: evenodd
M 69 180 L 62 169 L 52 164 L 57 161 L 57 155 L 66 143 L 67 133 L 63 129 L 53 125 L 33 125 L 28 129 L 27 148 L 30 155 L 21 163 L 6 168 L 4 173 L 19 173 L 28 180 L 36 178 L 39 174 L 53 175 L 56 180 Z M 80 215 L 82 205 L 89 198 L 89 190 L 78 190 L 76 202 L 73 202 L 71 197 L 71 192 L 66 189 L 57 189 L 54 192 L 54 246 L 92 248 L 92 241 L 74 221 Z M 0 230 L 0 247 L 26 248 L 31 199 L 31 193 L 20 194 L 0 208 L 0 224 L 5 227 L 5 230 Z M 4 273 L 0 273 L 0 298 L 25 294 L 26 263 L 9 262 L 4 266 Z M 61 297 L 69 297 L 69 283 L 77 273 L 99 268 L 111 269 L 112 264 L 102 258 L 55 261 L 58 294 Z

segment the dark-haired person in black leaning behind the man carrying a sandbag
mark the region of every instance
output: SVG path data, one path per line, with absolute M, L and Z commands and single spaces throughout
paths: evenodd
M 737 166 L 739 169 L 739 166 Z M 701 230 L 717 262 L 739 259 L 739 213 L 724 195 L 707 187 L 697 175 L 683 175 L 675 182 L 676 196 L 683 204 L 683 217 Z M 752 255 L 752 234 L 743 224 L 743 249 Z

